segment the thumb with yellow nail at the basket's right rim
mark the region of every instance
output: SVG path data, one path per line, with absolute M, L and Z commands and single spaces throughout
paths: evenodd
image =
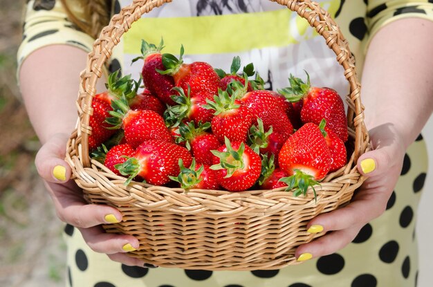
M 386 147 L 367 151 L 358 158 L 358 171 L 362 175 L 368 177 L 386 174 L 391 167 L 401 163 L 401 154 L 402 153 L 395 145 L 388 145 Z

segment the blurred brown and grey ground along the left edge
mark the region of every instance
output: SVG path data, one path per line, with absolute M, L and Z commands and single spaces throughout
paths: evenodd
M 63 224 L 37 176 L 39 141 L 15 79 L 24 2 L 0 0 L 0 286 L 64 286 Z

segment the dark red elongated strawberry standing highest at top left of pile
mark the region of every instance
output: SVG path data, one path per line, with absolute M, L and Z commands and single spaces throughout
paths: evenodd
M 147 41 L 142 40 L 141 44 L 141 57 L 132 60 L 136 62 L 138 59 L 144 59 L 145 63 L 142 66 L 142 80 L 145 87 L 156 95 L 161 101 L 166 104 L 174 104 L 170 95 L 172 95 L 172 88 L 174 87 L 174 80 L 169 75 L 161 75 L 157 70 L 163 70 L 163 50 L 164 41 L 161 39 L 159 46 L 149 44 Z

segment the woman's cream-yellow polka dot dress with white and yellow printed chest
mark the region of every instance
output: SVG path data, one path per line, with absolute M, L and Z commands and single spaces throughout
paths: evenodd
M 73 3 L 73 1 L 69 1 Z M 358 73 L 369 39 L 380 28 L 405 17 L 433 19 L 433 1 L 318 1 L 340 25 L 356 57 Z M 131 0 L 113 1 L 116 13 Z M 73 6 L 80 15 L 82 7 Z M 151 27 L 151 28 L 149 28 Z M 224 36 L 230 34 L 230 37 Z M 267 89 L 288 85 L 288 75 L 304 70 L 317 86 L 348 91 L 342 68 L 324 39 L 286 8 L 268 0 L 174 0 L 139 19 L 116 46 L 109 71 L 122 69 L 138 79 L 140 41 L 165 40 L 165 52 L 185 46 L 185 62 L 205 61 L 230 69 L 239 55 L 253 62 Z M 19 65 L 34 50 L 66 44 L 91 50 L 93 40 L 68 20 L 60 1 L 28 1 Z M 84 67 L 83 67 L 84 68 Z M 416 211 L 427 171 L 426 147 L 420 135 L 407 149 L 398 183 L 378 219 L 365 225 L 346 248 L 280 270 L 205 271 L 129 267 L 93 252 L 80 232 L 66 225 L 67 286 L 74 287 L 413 287 L 418 277 Z

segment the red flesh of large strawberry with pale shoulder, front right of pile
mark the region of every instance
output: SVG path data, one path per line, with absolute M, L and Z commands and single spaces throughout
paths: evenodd
M 331 153 L 317 124 L 308 122 L 284 142 L 279 151 L 279 167 L 289 176 L 299 169 L 319 180 L 331 168 Z

